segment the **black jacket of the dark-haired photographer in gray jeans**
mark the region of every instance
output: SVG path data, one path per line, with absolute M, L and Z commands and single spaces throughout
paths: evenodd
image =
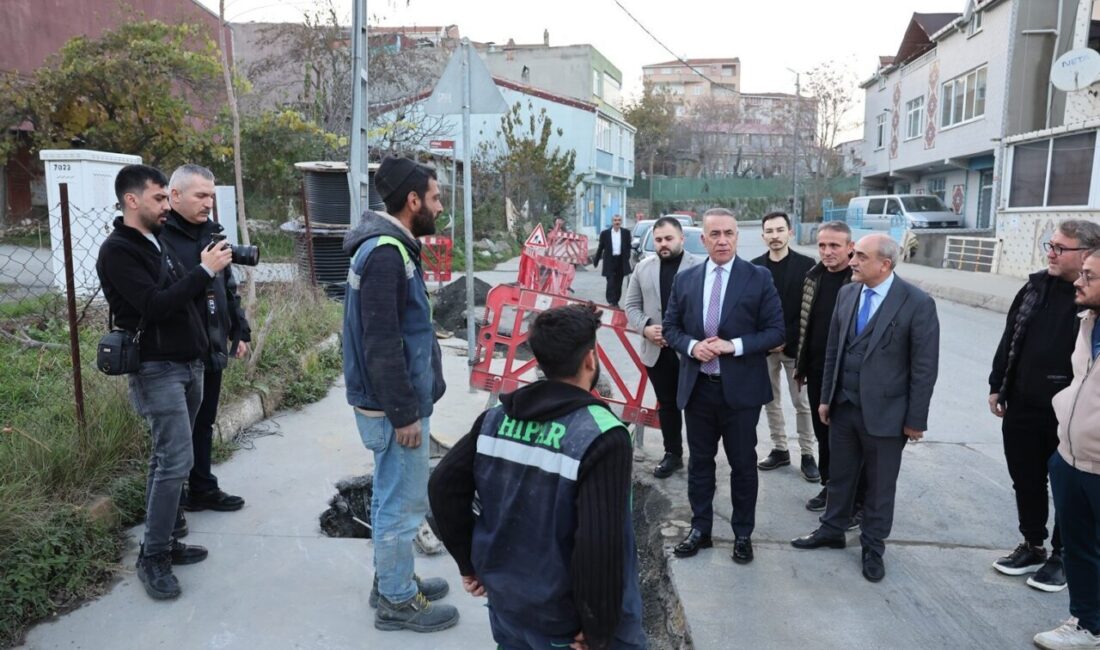
M 167 276 L 160 282 L 161 265 L 156 245 L 117 218 L 96 261 L 114 326 L 133 332 L 145 318 L 142 361 L 205 360 L 209 342 L 195 299 L 206 290 L 210 275 L 200 266 L 187 271 L 168 254 Z

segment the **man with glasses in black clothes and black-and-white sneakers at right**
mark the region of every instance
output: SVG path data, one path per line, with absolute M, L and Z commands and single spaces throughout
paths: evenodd
M 1049 515 L 1046 462 L 1058 448 L 1050 398 L 1074 378 L 1070 355 L 1078 323 L 1074 280 L 1087 252 L 1097 246 L 1100 225 L 1085 220 L 1058 224 L 1044 244 L 1046 268 L 1033 273 L 1012 301 L 989 374 L 989 409 L 1003 418 L 1004 459 L 1024 537 L 993 569 L 1005 575 L 1034 573 L 1027 584 L 1044 592 L 1066 587 L 1057 524 L 1049 557 L 1043 548 Z

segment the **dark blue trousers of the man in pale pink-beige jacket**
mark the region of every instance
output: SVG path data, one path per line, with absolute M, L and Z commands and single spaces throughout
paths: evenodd
M 1069 613 L 1100 632 L 1100 475 L 1074 469 L 1054 452 L 1047 463 L 1062 559 L 1069 586 Z

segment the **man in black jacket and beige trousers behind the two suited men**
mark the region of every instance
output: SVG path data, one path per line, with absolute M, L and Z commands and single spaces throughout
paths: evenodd
M 765 406 L 768 414 L 768 429 L 771 430 L 771 453 L 757 466 L 763 471 L 791 464 L 791 452 L 787 449 L 787 423 L 783 421 L 781 401 L 782 375 L 787 375 L 788 395 L 794 405 L 794 425 L 799 433 L 799 449 L 802 462 L 799 470 L 802 477 L 811 483 L 821 480 L 817 463 L 814 462 L 814 432 L 810 420 L 810 401 L 805 392 L 794 378 L 794 355 L 799 351 L 799 307 L 802 304 L 802 280 L 814 261 L 791 250 L 791 218 L 787 212 L 770 212 L 760 222 L 761 233 L 768 252 L 752 261 L 771 272 L 771 278 L 783 305 L 783 324 L 787 340 L 782 345 L 768 352 L 768 376 L 771 378 L 772 400 Z

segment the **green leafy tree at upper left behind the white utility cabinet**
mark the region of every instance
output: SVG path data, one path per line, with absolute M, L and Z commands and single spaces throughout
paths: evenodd
M 4 78 L 0 119 L 30 121 L 33 151 L 78 144 L 170 167 L 205 159 L 220 84 L 218 49 L 205 27 L 132 22 L 70 40 L 29 80 Z M 3 139 L 0 154 L 9 154 L 18 141 Z

